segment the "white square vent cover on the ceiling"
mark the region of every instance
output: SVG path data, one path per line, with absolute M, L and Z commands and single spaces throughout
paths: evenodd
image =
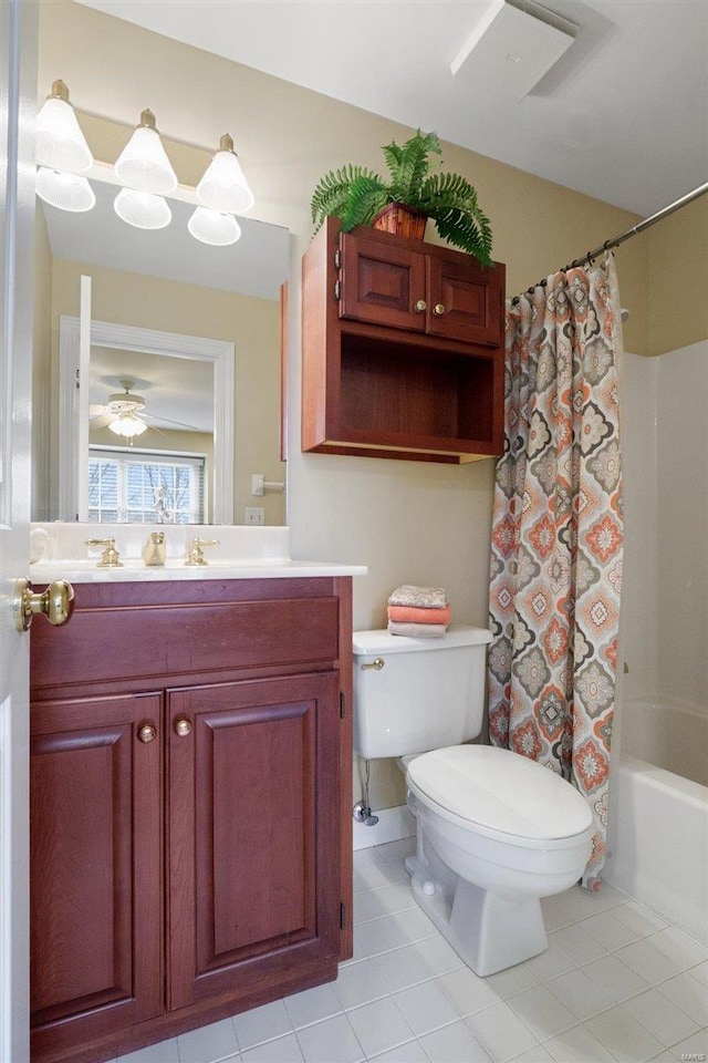
M 571 47 L 577 27 L 533 0 L 493 0 L 450 70 L 459 80 L 493 85 L 523 100 Z M 467 76 L 466 76 L 467 75 Z

